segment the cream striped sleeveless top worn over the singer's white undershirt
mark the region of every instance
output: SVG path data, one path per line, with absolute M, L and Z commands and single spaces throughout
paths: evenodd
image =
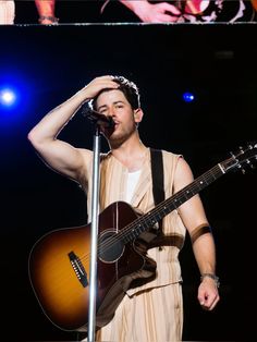
M 173 194 L 174 172 L 178 160 L 181 156 L 166 150 L 162 150 L 162 156 L 164 171 L 164 193 L 166 198 L 168 198 Z M 93 155 L 91 160 L 89 161 L 87 176 L 85 175 L 85 178 L 82 180 L 82 185 L 87 193 L 88 222 L 90 222 L 91 205 L 91 167 Z M 111 152 L 101 156 L 99 212 L 114 201 L 125 201 L 127 174 L 128 170 L 115 157 L 113 157 Z M 155 207 L 149 148 L 143 164 L 138 183 L 132 197 L 131 205 L 143 213 L 146 213 Z M 182 241 L 184 241 L 186 230 L 178 210 L 173 210 L 163 218 L 162 231 L 164 235 L 179 235 L 182 237 Z M 180 249 L 176 246 L 164 246 L 161 251 L 158 247 L 148 249 L 147 255 L 157 262 L 157 277 L 155 280 L 142 286 L 128 290 L 127 294 L 133 295 L 142 290 L 181 281 L 181 267 L 178 259 L 179 252 Z

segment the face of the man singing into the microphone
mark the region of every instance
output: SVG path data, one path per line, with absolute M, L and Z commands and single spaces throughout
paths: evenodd
M 133 110 L 124 94 L 119 89 L 107 90 L 99 95 L 96 101 L 96 110 L 111 117 L 114 121 L 114 129 L 103 130 L 106 137 L 113 143 L 123 143 L 135 131 L 137 110 Z

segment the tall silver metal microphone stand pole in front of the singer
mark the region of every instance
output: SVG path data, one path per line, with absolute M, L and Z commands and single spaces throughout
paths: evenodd
M 98 205 L 99 205 L 99 158 L 100 125 L 95 121 L 94 162 L 93 162 L 93 197 L 91 197 L 91 242 L 90 242 L 90 274 L 89 274 L 89 307 L 88 307 L 88 342 L 95 342 L 96 327 L 96 282 L 97 282 L 97 241 L 98 241 Z

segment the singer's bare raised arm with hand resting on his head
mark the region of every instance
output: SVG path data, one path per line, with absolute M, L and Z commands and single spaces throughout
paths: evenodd
M 58 134 L 73 118 L 81 106 L 103 88 L 117 88 L 111 76 L 94 78 L 69 100 L 54 108 L 28 133 L 28 139 L 45 162 L 68 178 L 79 180 L 83 166 L 90 154 L 58 139 Z

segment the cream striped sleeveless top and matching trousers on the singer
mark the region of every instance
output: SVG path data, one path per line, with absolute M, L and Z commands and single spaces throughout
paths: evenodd
M 168 198 L 173 193 L 174 171 L 181 156 L 162 152 L 164 192 Z M 88 213 L 90 213 L 91 200 L 91 180 L 88 176 L 91 173 L 91 161 L 85 178 L 81 180 L 87 191 Z M 128 170 L 110 152 L 102 156 L 100 172 L 100 209 L 102 210 L 114 201 L 125 200 Z M 147 212 L 155 207 L 149 149 L 131 205 L 142 212 Z M 186 230 L 176 210 L 164 217 L 162 231 L 164 235 L 179 235 L 184 241 Z M 176 246 L 164 246 L 161 251 L 158 247 L 148 249 L 147 256 L 157 262 L 157 277 L 144 285 L 127 290 L 115 310 L 114 318 L 97 332 L 97 341 L 181 341 L 183 303 L 179 253 Z

